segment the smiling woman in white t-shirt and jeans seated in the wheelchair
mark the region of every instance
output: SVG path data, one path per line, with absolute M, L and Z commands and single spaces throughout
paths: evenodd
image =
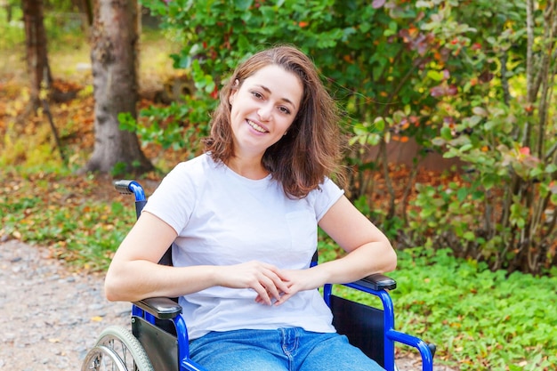
M 106 278 L 111 301 L 180 296 L 190 356 L 209 370 L 375 370 L 319 295 L 394 270 L 396 254 L 328 176 L 335 102 L 291 46 L 254 54 L 222 88 L 206 153 L 149 198 Z M 348 254 L 310 268 L 318 225 Z M 157 265 L 173 244 L 174 267 Z

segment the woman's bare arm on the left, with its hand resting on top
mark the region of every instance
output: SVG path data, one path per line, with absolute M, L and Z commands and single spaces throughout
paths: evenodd
M 147 297 L 176 297 L 211 286 L 253 288 L 263 302 L 287 292 L 284 277 L 274 266 L 246 262 L 231 266 L 168 267 L 157 262 L 177 237 L 157 216 L 142 213 L 118 247 L 105 278 L 110 301 L 135 302 Z

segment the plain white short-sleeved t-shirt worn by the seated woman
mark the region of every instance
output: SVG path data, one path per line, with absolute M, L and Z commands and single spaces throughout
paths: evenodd
M 317 248 L 317 223 L 343 195 L 326 179 L 302 199 L 288 198 L 269 175 L 250 180 L 204 154 L 176 165 L 144 211 L 178 233 L 174 266 L 230 265 L 253 260 L 307 269 Z M 303 327 L 335 332 L 318 290 L 279 306 L 254 302 L 252 289 L 214 286 L 180 298 L 190 339 L 210 331 Z

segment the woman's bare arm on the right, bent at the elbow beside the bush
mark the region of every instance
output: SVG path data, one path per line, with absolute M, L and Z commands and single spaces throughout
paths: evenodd
M 326 283 L 352 282 L 396 268 L 397 255 L 389 240 L 348 198 L 339 198 L 321 218 L 319 227 L 348 254 L 309 270 L 289 270 L 290 293 L 283 295 L 277 304 L 286 302 L 290 296 L 302 290 L 311 290 Z

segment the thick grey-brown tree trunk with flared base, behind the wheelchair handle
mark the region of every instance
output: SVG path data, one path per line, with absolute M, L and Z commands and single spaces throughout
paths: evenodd
M 137 116 L 138 5 L 136 1 L 94 2 L 91 60 L 93 65 L 93 155 L 84 171 L 144 173 L 153 165 L 143 155 L 135 133 L 119 129 L 118 114 Z

